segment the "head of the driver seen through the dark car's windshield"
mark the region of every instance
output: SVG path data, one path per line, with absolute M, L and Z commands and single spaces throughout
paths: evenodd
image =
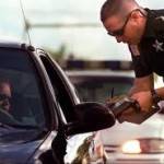
M 7 80 L 0 80 L 0 108 L 9 112 L 11 104 L 11 84 Z

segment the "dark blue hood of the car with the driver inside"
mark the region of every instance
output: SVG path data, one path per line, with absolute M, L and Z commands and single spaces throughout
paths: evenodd
M 42 142 L 35 140 L 34 136 L 34 130 L 0 128 L 0 163 L 25 164 Z

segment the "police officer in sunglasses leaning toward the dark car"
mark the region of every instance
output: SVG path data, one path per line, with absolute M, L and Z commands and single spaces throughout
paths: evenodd
M 153 72 L 164 77 L 164 10 L 143 9 L 134 0 L 106 0 L 101 21 L 107 34 L 129 46 L 136 79 L 129 95 L 142 110 L 164 98 L 154 90 Z

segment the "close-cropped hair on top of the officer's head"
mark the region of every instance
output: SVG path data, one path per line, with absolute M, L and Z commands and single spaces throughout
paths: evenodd
M 134 9 L 141 9 L 134 0 L 106 0 L 101 9 L 101 21 L 112 15 L 126 16 Z

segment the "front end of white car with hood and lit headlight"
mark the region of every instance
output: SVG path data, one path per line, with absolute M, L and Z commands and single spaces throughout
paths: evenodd
M 99 131 L 108 164 L 164 164 L 164 116 L 141 125 L 116 124 Z

